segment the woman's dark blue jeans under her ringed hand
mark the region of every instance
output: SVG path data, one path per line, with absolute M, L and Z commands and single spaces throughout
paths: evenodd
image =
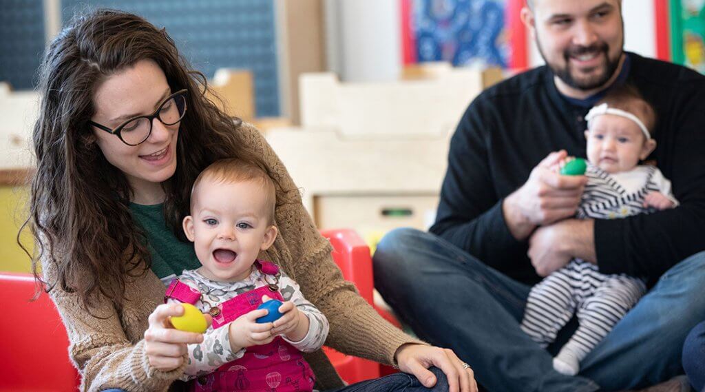
M 436 385 L 426 388 L 419 380 L 406 373 L 389 374 L 379 379 L 360 381 L 353 385 L 344 386 L 334 392 L 447 392 L 448 379 L 446 374 L 437 367 L 429 369 L 436 375 Z M 333 391 L 331 391 L 333 392 Z

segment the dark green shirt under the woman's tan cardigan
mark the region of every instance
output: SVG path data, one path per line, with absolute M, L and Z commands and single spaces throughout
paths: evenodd
M 130 203 L 130 211 L 147 235 L 147 249 L 152 255 L 152 271 L 168 284 L 185 269 L 201 267 L 192 243 L 183 243 L 164 220 L 164 204 L 145 206 Z

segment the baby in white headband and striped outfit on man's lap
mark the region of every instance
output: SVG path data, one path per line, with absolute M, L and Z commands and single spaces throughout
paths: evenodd
M 656 148 L 654 109 L 631 87 L 612 90 L 587 114 L 587 159 L 580 219 L 617 219 L 678 205 L 655 166 L 639 165 Z M 580 326 L 553 358 L 553 367 L 575 375 L 580 361 L 644 295 L 639 278 L 604 275 L 595 264 L 573 259 L 532 288 L 522 330 L 544 348 L 575 313 Z

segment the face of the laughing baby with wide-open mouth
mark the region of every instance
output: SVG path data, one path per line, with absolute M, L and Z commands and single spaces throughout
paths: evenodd
M 204 178 L 192 198 L 191 215 L 183 226 L 203 266 L 201 274 L 214 281 L 247 278 L 259 251 L 266 250 L 277 233 L 269 223 L 262 186 Z

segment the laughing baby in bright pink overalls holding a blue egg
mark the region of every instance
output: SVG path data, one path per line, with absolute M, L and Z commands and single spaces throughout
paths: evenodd
M 254 164 L 223 159 L 208 166 L 191 192 L 183 229 L 202 267 L 174 279 L 170 301 L 213 317 L 203 343 L 188 345 L 184 381 L 195 391 L 312 391 L 314 374 L 301 352 L 318 350 L 328 320 L 298 284 L 258 259 L 278 234 L 274 181 Z M 274 322 L 257 322 L 270 299 L 284 301 Z

